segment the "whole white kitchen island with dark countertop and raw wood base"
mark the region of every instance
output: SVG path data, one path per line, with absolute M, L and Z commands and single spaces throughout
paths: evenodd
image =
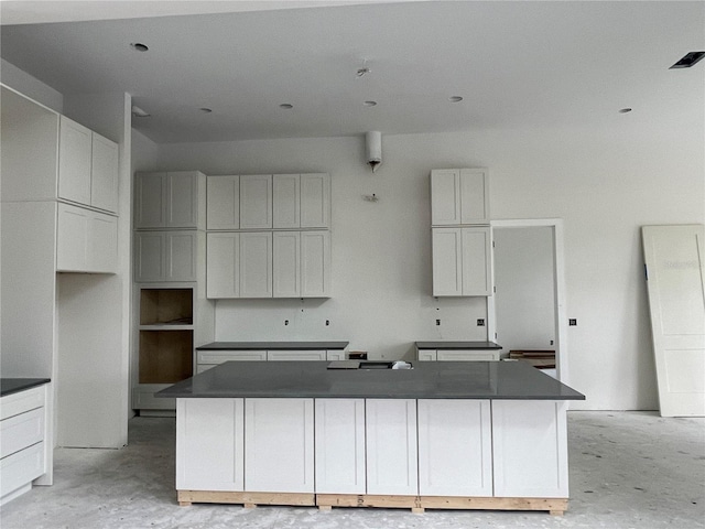
M 180 504 L 566 510 L 579 392 L 517 361 L 328 366 L 227 361 L 158 393 Z

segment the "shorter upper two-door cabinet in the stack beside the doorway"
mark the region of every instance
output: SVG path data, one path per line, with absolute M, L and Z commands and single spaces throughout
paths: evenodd
M 487 169 L 440 169 L 431 172 L 433 226 L 488 225 Z

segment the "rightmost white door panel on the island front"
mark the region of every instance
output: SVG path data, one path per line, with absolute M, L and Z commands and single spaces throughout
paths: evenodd
M 567 498 L 565 401 L 495 400 L 495 496 Z

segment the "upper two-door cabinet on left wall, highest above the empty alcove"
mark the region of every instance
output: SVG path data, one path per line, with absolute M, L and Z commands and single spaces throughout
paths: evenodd
M 118 144 L 65 116 L 59 121 L 58 197 L 118 210 Z

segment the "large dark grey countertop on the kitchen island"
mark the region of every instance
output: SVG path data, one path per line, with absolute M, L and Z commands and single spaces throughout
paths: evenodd
M 413 361 L 413 369 L 327 369 L 328 361 L 226 361 L 155 393 L 176 398 L 585 400 L 525 361 Z

